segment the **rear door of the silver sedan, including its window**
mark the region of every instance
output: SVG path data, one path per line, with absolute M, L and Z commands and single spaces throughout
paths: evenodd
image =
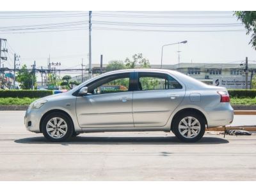
M 162 72 L 136 72 L 133 93 L 134 127 L 162 127 L 185 95 L 185 87 Z

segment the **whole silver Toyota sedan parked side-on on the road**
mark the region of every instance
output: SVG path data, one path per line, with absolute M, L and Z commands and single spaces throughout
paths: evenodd
M 206 127 L 231 124 L 229 100 L 226 88 L 173 70 L 118 70 L 36 100 L 25 125 L 50 141 L 81 132 L 172 131 L 181 141 L 195 142 Z

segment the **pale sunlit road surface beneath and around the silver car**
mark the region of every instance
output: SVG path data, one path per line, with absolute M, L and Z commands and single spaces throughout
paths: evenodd
M 106 132 L 49 143 L 23 121 L 24 111 L 0 111 L 0 180 L 256 180 L 255 134 L 180 143 L 165 132 Z

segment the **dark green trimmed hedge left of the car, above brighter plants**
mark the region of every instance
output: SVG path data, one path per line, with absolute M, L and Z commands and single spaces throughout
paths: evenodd
M 51 90 L 0 90 L 0 97 L 40 98 L 52 95 Z

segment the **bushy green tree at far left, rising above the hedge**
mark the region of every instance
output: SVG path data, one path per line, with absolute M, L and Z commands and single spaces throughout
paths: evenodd
M 16 80 L 20 83 L 22 90 L 29 90 L 32 86 L 32 79 L 34 79 L 34 86 L 36 84 L 36 77 L 33 76 L 32 72 L 28 71 L 26 65 L 22 65 L 19 72 L 17 72 Z

